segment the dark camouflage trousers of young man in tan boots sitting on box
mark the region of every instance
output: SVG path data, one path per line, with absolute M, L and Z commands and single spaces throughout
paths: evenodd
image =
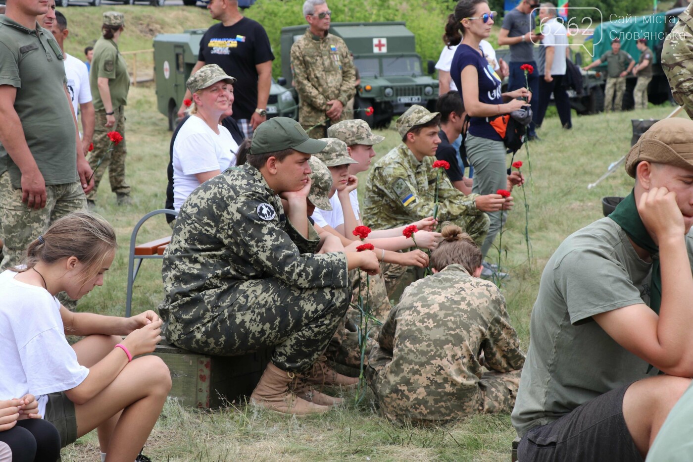
M 351 287 L 301 289 L 275 278 L 249 280 L 225 294 L 232 305 L 213 313 L 192 332 L 172 339 L 187 350 L 236 356 L 274 346 L 272 362 L 304 372 L 323 354 L 349 308 Z

